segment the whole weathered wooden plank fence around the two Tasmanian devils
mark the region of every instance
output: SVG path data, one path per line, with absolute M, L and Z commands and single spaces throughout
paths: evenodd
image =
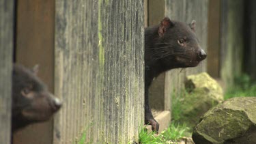
M 253 0 L 31 0 L 15 5 L 0 2 L 0 143 L 10 143 L 12 59 L 27 67 L 39 64 L 38 75 L 63 100 L 54 119 L 16 132 L 14 144 L 78 143 L 83 137 L 86 143 L 137 141 L 144 120 L 144 27 L 165 16 L 185 23 L 195 19 L 208 59 L 196 68 L 160 74 L 150 88 L 153 109 L 171 111 L 171 94 L 182 89 L 188 74 L 208 69 L 227 83 L 243 71 L 244 37 L 236 33 L 244 33 L 244 12 L 252 13 L 245 17 L 251 29 L 245 67 L 251 75 L 255 70 L 250 71 L 256 41 Z

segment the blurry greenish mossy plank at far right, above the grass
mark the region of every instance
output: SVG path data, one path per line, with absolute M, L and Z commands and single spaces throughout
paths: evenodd
M 244 1 L 221 1 L 221 78 L 231 86 L 242 72 Z

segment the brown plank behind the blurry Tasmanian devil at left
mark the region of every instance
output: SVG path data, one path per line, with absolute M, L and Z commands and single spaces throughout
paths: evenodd
M 38 76 L 53 92 L 54 1 L 17 1 L 16 62 L 39 64 Z M 14 134 L 15 143 L 52 143 L 53 119 Z

